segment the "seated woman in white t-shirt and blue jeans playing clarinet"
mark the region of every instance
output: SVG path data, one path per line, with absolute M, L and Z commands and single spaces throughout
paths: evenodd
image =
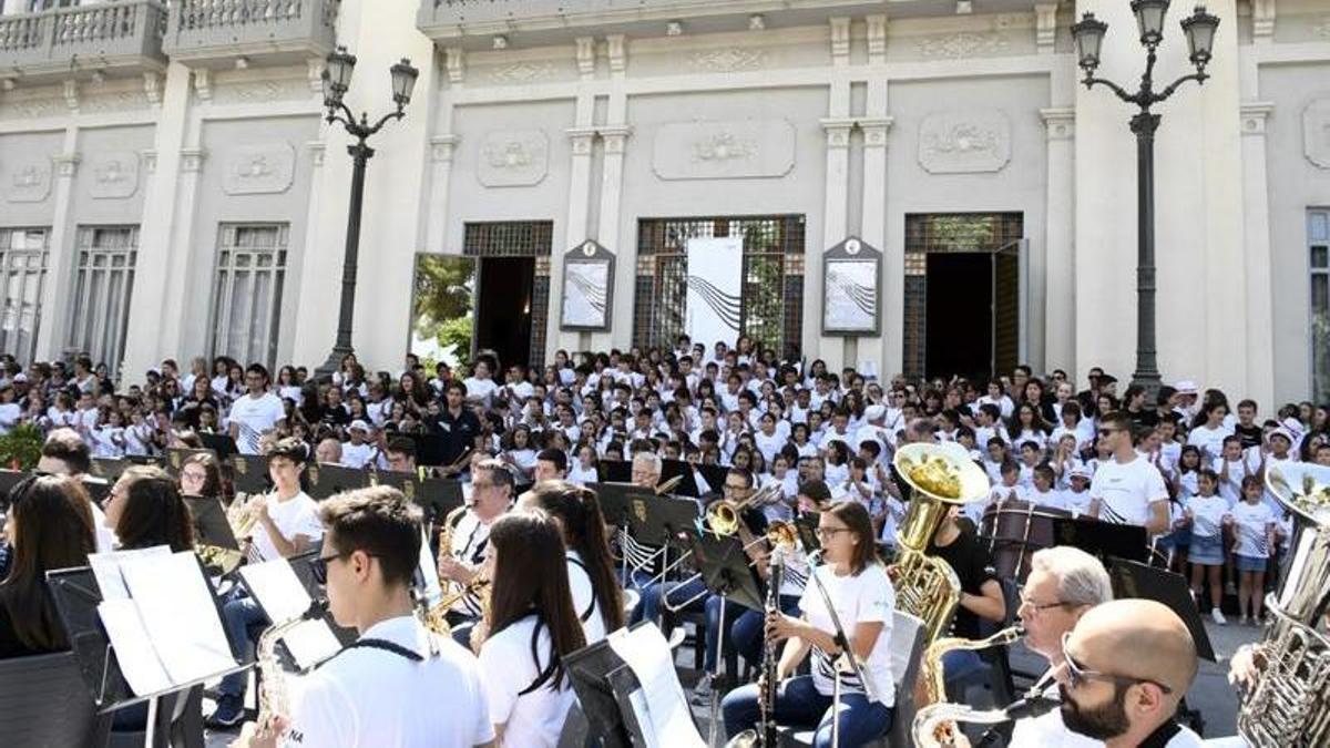
M 777 689 L 774 719 L 783 725 L 815 728 L 814 745 L 830 744 L 837 725 L 841 745 L 863 745 L 891 729 L 895 679 L 890 642 L 895 591 L 876 560 L 872 523 L 862 504 L 833 504 L 821 512 L 818 522 L 822 566 L 813 570 L 817 580 L 809 582 L 799 599 L 803 616 L 767 616 L 767 634 L 777 640 L 787 639 L 775 668 L 777 679 L 785 683 Z M 825 588 L 826 598 L 821 588 Z M 838 713 L 833 713 L 831 707 L 841 648 L 825 602 L 827 598 L 859 656 L 871 691 L 871 696 L 864 692 L 853 669 L 842 673 Z M 790 677 L 810 651 L 811 675 Z M 721 709 L 726 735 L 733 737 L 757 725 L 761 719 L 758 700 L 755 683 L 725 697 Z

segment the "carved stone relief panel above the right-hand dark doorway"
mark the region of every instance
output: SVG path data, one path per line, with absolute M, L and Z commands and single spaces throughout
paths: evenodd
M 919 124 L 919 165 L 930 174 L 999 172 L 1011 161 L 1011 122 L 996 109 L 935 112 Z

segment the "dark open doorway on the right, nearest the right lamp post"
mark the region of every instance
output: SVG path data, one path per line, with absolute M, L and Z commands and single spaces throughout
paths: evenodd
M 927 374 L 986 381 L 992 375 L 992 254 L 932 252 L 927 257 Z

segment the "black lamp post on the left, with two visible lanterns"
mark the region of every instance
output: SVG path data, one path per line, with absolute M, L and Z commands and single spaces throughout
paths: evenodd
M 411 89 L 420 75 L 411 67 L 411 61 L 403 59 L 390 68 L 392 73 L 392 102 L 395 109 L 388 112 L 379 121 L 370 124 L 367 113 L 360 112 L 360 118 L 347 108 L 342 97 L 351 88 L 351 72 L 355 71 L 355 56 L 348 55 L 346 47 L 338 47 L 327 57 L 327 67 L 323 69 L 323 106 L 329 113 L 325 117 L 329 124 L 342 122 L 346 132 L 356 138 L 354 145 L 346 146 L 355 165 L 351 170 L 351 206 L 346 217 L 346 252 L 342 260 L 342 305 L 338 310 L 336 343 L 329 359 L 315 370 L 319 378 L 331 377 L 340 369 L 342 359 L 352 351 L 351 349 L 351 319 L 355 314 L 355 274 L 356 258 L 360 253 L 360 209 L 364 202 L 364 165 L 374 156 L 374 149 L 366 145 L 366 140 L 379 132 L 388 120 L 400 120 L 406 116 L 406 105 L 411 101 Z

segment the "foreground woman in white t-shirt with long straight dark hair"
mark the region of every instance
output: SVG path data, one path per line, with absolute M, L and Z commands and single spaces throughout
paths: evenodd
M 583 648 L 587 638 L 573 610 L 564 552 L 559 523 L 543 511 L 507 514 L 489 530 L 493 583 L 480 675 L 496 744 L 557 744 L 573 704 L 563 657 Z

